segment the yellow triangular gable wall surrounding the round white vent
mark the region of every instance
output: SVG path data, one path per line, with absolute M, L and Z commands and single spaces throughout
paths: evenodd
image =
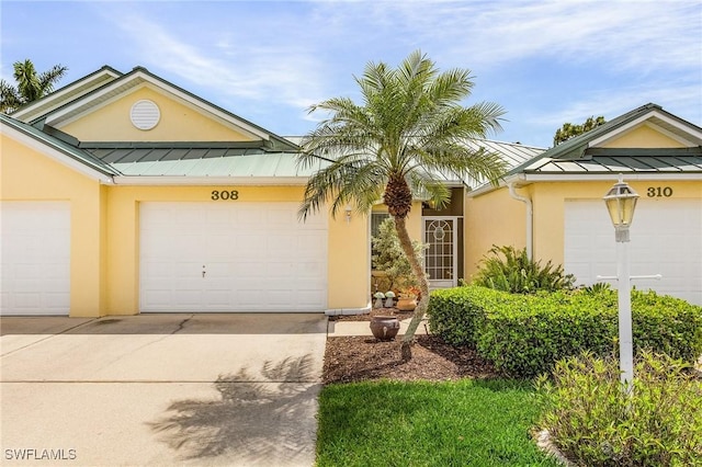
M 129 112 L 135 102 L 154 101 L 160 111 L 158 125 L 141 130 L 132 125 Z M 206 117 L 194 107 L 144 86 L 114 102 L 65 125 L 61 132 L 81 141 L 249 141 L 251 137 Z

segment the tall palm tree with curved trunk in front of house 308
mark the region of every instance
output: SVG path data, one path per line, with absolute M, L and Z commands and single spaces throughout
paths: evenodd
M 412 249 L 406 217 L 415 198 L 445 206 L 446 174 L 497 182 L 505 170 L 502 160 L 471 150 L 465 143 L 500 129 L 505 111 L 495 103 L 462 106 L 474 86 L 471 72 L 440 72 L 419 50 L 396 69 L 369 62 L 355 81 L 362 105 L 335 98 L 309 107 L 328 117 L 303 138 L 298 164 L 313 167 L 319 157 L 329 163 L 309 178 L 299 216 L 305 219 L 327 203 L 332 217 L 347 205 L 364 215 L 380 200 L 387 205 L 421 291 L 401 344 L 401 356 L 409 360 L 415 331 L 429 305 L 429 282 Z

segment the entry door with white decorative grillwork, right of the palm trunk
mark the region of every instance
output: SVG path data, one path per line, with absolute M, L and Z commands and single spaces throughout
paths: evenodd
M 457 217 L 423 217 L 424 271 L 430 288 L 446 288 L 457 285 Z

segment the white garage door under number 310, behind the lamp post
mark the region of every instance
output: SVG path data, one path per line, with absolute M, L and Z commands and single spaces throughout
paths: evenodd
M 663 274 L 660 281 L 633 281 L 636 288 L 702 305 L 702 201 L 638 200 L 630 257 L 632 275 Z M 601 200 L 566 202 L 564 263 L 578 284 L 616 275 L 614 228 Z

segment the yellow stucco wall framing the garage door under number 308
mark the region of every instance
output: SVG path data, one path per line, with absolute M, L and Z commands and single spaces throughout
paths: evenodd
M 109 315 L 134 315 L 139 310 L 139 203 L 208 202 L 213 190 L 227 186 L 110 186 L 107 224 Z M 302 186 L 238 186 L 241 202 L 299 202 Z M 367 217 L 329 216 L 328 308 L 363 308 L 370 289 Z

